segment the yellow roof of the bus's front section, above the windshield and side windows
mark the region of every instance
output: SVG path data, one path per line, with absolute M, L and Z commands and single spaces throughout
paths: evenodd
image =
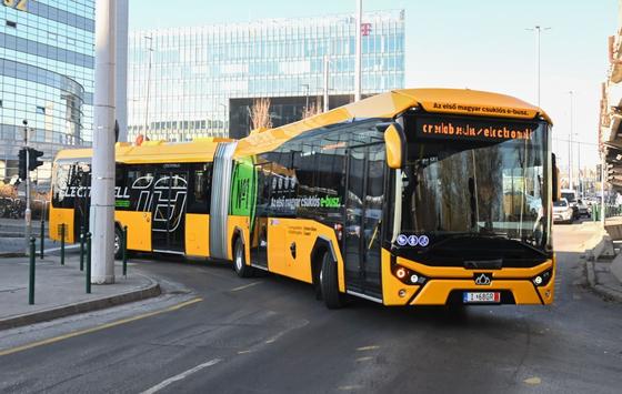
M 294 123 L 251 134 L 239 141 L 237 155 L 269 151 L 305 131 L 344 123 L 353 119 L 392 119 L 413 107 L 421 107 L 432 113 L 445 114 L 525 120 L 542 117 L 546 122 L 552 123 L 542 109 L 511 95 L 470 89 L 401 89 L 372 95 Z

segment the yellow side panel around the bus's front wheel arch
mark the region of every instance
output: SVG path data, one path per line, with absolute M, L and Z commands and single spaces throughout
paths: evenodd
M 334 230 L 314 220 L 269 219 L 268 267 L 270 272 L 312 283 L 311 252 L 318 239 L 328 240 L 337 255 L 339 291 L 345 292 L 343 257 Z M 291 246 L 295 244 L 295 259 Z

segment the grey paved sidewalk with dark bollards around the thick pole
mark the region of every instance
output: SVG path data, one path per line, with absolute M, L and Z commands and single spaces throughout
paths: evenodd
M 141 275 L 133 267 L 128 277 L 116 264 L 116 283 L 91 285 L 86 293 L 86 275 L 80 271 L 79 256 L 66 256 L 60 265 L 58 253 L 36 263 L 34 305 L 28 304 L 28 257 L 0 259 L 0 330 L 100 310 L 160 294 L 157 281 Z M 134 269 L 136 270 L 136 269 Z

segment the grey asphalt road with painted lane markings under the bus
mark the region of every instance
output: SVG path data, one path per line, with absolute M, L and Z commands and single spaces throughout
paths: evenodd
M 555 231 L 552 307 L 330 311 L 309 285 L 231 267 L 144 261 L 192 305 L 0 356 L 23 393 L 619 393 L 622 305 L 585 290 L 576 225 Z

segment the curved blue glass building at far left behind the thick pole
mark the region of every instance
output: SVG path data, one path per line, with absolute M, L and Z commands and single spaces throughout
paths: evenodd
M 90 144 L 93 85 L 94 0 L 0 4 L 0 181 L 17 173 L 23 120 L 47 161 Z

